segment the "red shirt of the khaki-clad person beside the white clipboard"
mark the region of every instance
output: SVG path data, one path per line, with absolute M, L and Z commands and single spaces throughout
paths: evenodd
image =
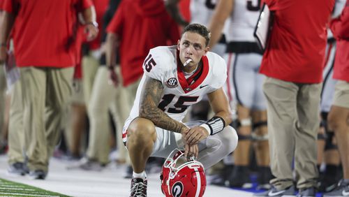
M 326 24 L 334 0 L 265 0 L 275 11 L 260 73 L 288 82 L 320 83 Z

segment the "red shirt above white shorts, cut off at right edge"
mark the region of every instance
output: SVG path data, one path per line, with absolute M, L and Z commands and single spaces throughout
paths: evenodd
M 331 21 L 330 28 L 337 41 L 333 78 L 349 82 L 349 0 L 341 16 Z

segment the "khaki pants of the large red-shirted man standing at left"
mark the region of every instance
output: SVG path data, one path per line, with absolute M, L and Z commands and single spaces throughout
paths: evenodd
M 20 68 L 23 94 L 24 145 L 30 170 L 48 170 L 61 136 L 62 119 L 73 80 L 70 68 Z

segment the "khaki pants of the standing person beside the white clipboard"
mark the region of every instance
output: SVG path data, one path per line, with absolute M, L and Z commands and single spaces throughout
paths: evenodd
M 292 185 L 295 161 L 297 187 L 315 187 L 316 140 L 320 124 L 319 106 L 322 84 L 296 84 L 266 78 L 263 91 L 267 99 L 271 181 L 277 189 Z

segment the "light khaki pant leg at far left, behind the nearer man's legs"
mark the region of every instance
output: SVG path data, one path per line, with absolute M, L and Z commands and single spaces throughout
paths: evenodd
M 8 124 L 8 163 L 24 162 L 23 99 L 20 81 L 10 90 L 10 122 Z

